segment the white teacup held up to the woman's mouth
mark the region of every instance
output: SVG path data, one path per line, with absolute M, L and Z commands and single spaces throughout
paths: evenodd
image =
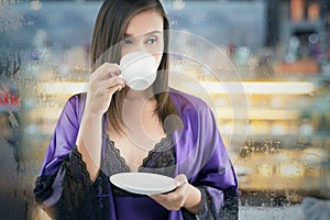
M 120 61 L 121 76 L 127 85 L 134 90 L 148 88 L 156 79 L 156 59 L 145 52 L 133 52 Z

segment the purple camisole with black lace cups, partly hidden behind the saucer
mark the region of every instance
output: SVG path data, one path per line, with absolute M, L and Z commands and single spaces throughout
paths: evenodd
M 170 135 L 161 140 L 155 147 L 148 152 L 143 160 L 139 172 L 154 173 L 174 177 L 174 168 L 176 164 L 175 152 Z M 111 176 L 118 173 L 128 173 L 130 167 L 125 160 L 121 156 L 120 151 L 114 146 L 114 142 L 107 135 L 106 139 L 106 157 L 101 166 L 101 170 Z M 156 204 L 147 196 L 136 195 L 112 186 L 112 194 L 116 205 L 116 213 L 118 219 L 128 219 L 132 212 L 136 213 L 139 219 L 168 219 L 168 210 Z M 135 202 L 132 202 L 132 199 Z M 128 202 L 130 201 L 130 202 Z

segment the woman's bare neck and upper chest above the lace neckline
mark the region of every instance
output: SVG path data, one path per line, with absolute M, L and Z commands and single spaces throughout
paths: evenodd
M 155 105 L 151 101 L 139 106 L 132 102 L 123 108 L 123 132 L 108 128 L 108 136 L 120 152 L 131 170 L 136 172 L 144 158 L 165 136 L 163 123 L 154 112 Z

